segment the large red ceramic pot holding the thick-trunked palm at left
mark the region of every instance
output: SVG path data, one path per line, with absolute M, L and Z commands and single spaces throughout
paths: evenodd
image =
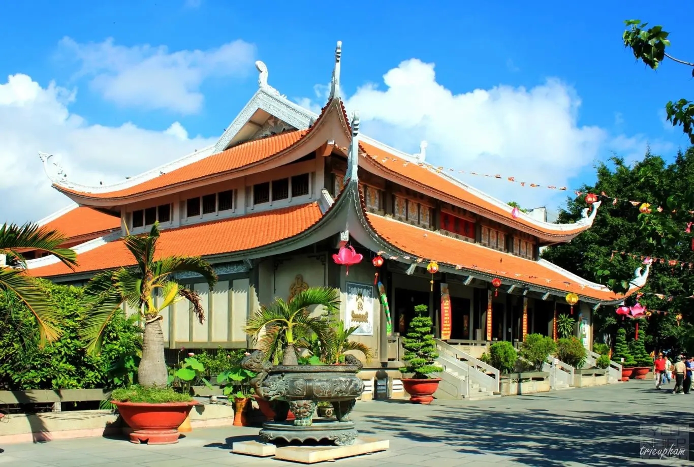
M 118 407 L 124 421 L 133 429 L 130 442 L 148 444 L 178 443 L 178 427 L 185 421 L 198 402 L 169 402 L 149 404 L 146 402 L 111 401 Z

